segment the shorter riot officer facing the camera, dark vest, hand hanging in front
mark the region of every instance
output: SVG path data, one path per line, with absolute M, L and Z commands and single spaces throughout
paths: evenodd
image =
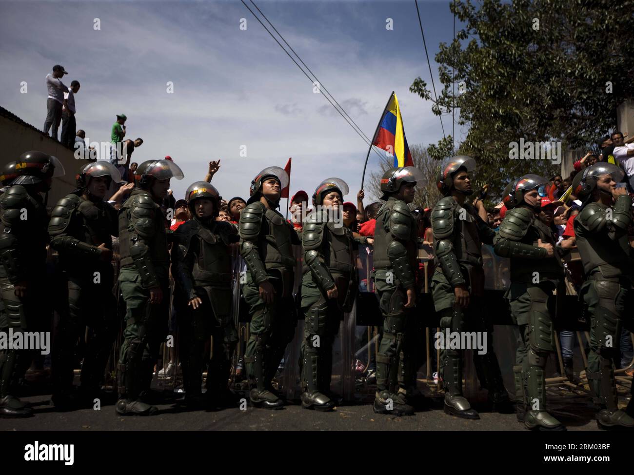
M 207 181 L 197 181 L 185 192 L 192 218 L 174 233 L 172 275 L 178 315 L 185 400 L 211 408 L 233 402 L 227 384 L 238 334 L 231 318 L 231 251 L 238 242 L 233 223 L 216 221 L 221 196 Z M 205 342 L 212 337 L 212 355 Z M 206 355 L 206 356 L 204 356 Z M 202 397 L 201 375 L 207 369 L 207 393 Z

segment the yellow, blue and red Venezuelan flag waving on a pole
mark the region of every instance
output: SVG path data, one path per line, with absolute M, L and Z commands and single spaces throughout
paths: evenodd
M 411 159 L 410 147 L 408 147 L 407 139 L 405 138 L 401 109 L 393 91 L 387 106 L 385 106 L 377 132 L 374 134 L 372 145 L 385 150 L 390 155 L 394 155 L 394 167 L 414 165 Z

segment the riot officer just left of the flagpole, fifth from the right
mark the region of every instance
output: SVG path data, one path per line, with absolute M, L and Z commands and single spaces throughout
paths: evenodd
M 343 224 L 345 181 L 328 178 L 313 193 L 315 209 L 304 223 L 302 303 L 304 340 L 300 356 L 302 407 L 331 410 L 332 345 L 343 314 L 352 309 L 357 292 L 356 257 L 359 243 Z

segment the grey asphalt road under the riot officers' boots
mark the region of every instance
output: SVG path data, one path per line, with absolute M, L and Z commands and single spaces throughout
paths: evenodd
M 552 391 L 551 391 L 552 393 Z M 550 394 L 549 394 L 550 395 Z M 341 405 L 333 412 L 316 412 L 289 403 L 281 410 L 247 407 L 215 412 L 188 411 L 178 403 L 157 405 L 151 417 L 121 417 L 113 401 L 104 401 L 101 410 L 82 409 L 57 412 L 49 396 L 23 398 L 34 407 L 27 419 L 0 419 L 3 431 L 524 431 L 514 414 L 484 412 L 480 420 L 463 420 L 443 412 L 441 398 L 430 399 L 427 410 L 410 417 L 378 415 L 370 403 Z M 621 398 L 626 403 L 626 398 Z M 550 409 L 569 431 L 597 431 L 590 400 L 584 394 L 561 396 L 553 393 Z

